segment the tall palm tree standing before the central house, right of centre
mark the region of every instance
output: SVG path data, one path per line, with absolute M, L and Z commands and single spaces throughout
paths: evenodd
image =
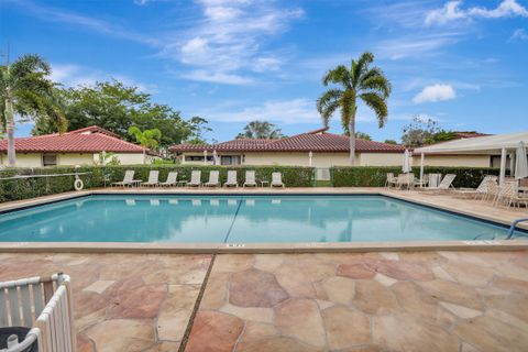
M 339 65 L 330 69 L 322 84 L 334 84 L 339 88 L 327 90 L 317 100 L 317 110 L 326 127 L 336 110 L 341 109 L 341 124 L 344 134 L 350 135 L 350 163 L 355 163 L 355 113 L 358 98 L 374 110 L 380 128 L 387 120 L 387 98 L 391 95 L 391 82 L 378 67 L 370 67 L 374 62 L 372 53 L 363 53 L 358 61 L 352 59 L 350 69 Z

